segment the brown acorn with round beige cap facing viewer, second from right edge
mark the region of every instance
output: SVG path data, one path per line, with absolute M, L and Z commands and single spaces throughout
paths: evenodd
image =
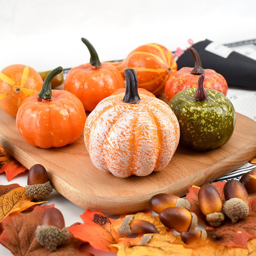
M 249 214 L 248 193 L 238 180 L 228 180 L 223 188 L 226 202 L 223 211 L 235 223 Z

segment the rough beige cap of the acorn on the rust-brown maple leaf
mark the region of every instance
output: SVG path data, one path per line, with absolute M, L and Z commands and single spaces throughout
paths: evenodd
M 50 250 L 55 251 L 58 245 L 66 242 L 69 236 L 68 228 L 62 229 L 55 226 L 37 226 L 36 239 L 43 246 L 48 247 Z

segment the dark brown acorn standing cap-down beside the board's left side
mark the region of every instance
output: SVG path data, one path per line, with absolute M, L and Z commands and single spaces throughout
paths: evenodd
M 46 169 L 41 164 L 34 164 L 28 172 L 28 185 L 25 187 L 25 195 L 42 200 L 52 192 L 52 185 L 48 179 Z

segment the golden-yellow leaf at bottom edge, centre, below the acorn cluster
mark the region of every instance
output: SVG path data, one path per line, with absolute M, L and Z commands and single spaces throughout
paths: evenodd
M 143 242 L 144 241 L 144 242 Z M 125 243 L 112 244 L 118 249 L 118 256 L 190 256 L 193 250 L 184 248 L 183 244 L 174 244 L 177 241 L 171 234 L 150 234 L 144 235 L 139 244 L 127 247 Z

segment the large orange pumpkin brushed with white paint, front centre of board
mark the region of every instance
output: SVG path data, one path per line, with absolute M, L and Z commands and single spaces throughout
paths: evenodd
M 117 177 L 146 176 L 170 162 L 179 123 L 162 100 L 139 96 L 134 69 L 126 69 L 125 77 L 125 93 L 102 100 L 87 117 L 84 142 L 99 170 Z

